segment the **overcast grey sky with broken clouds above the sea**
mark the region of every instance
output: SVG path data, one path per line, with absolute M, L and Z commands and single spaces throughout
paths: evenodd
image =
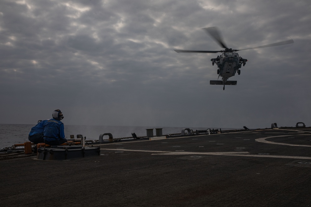
M 269 128 L 311 125 L 309 0 L 0 2 L 1 124 Z M 217 80 L 217 26 L 248 59 Z

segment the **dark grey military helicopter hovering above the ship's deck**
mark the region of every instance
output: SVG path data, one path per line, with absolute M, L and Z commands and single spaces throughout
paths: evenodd
M 220 32 L 218 31 L 217 27 L 207 27 L 207 28 L 202 28 L 202 29 L 207 31 L 207 33 L 210 34 L 211 37 L 214 38 L 216 40 L 216 42 L 219 43 L 219 45 L 221 47 L 225 48 L 225 50 L 219 50 L 219 51 L 174 50 L 174 51 L 176 51 L 178 53 L 180 53 L 180 52 L 202 52 L 202 53 L 222 52 L 222 55 L 211 59 L 212 65 L 214 65 L 216 63 L 216 65 L 218 66 L 218 69 L 217 69 L 218 79 L 219 79 L 219 76 L 221 76 L 222 80 L 211 80 L 210 84 L 211 85 L 224 85 L 224 88 L 223 88 L 224 90 L 225 90 L 225 85 L 236 85 L 237 81 L 229 81 L 228 79 L 230 77 L 234 76 L 236 72 L 238 72 L 238 74 L 240 74 L 241 70 L 239 68 L 241 68 L 242 64 L 244 66 L 247 62 L 247 59 L 240 57 L 239 54 L 237 53 L 237 51 L 257 49 L 257 48 L 263 48 L 263 47 L 273 47 L 273 46 L 278 46 L 278 45 L 285 45 L 285 44 L 294 43 L 294 40 L 290 39 L 290 40 L 283 41 L 283 42 L 235 50 L 232 48 L 228 48 L 225 45 L 224 41 L 222 40 L 222 38 L 220 36 Z

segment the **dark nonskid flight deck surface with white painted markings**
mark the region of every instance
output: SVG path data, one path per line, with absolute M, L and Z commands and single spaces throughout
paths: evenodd
M 310 206 L 311 129 L 114 142 L 0 161 L 2 206 Z

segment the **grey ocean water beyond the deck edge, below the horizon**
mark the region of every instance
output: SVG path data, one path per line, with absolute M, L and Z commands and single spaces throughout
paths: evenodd
M 0 149 L 3 147 L 12 146 L 28 142 L 28 134 L 30 129 L 35 124 L 0 124 Z M 181 133 L 183 128 L 190 128 L 193 131 L 203 130 L 202 127 L 133 127 L 133 126 L 80 126 L 80 125 L 64 125 L 65 137 L 70 138 L 70 135 L 82 134 L 86 140 L 98 140 L 99 135 L 103 133 L 111 133 L 114 138 L 132 137 L 135 133 L 137 137 L 146 136 L 146 129 L 154 128 L 153 134 L 156 135 L 156 128 L 163 128 L 162 133 Z M 211 127 L 210 127 L 211 128 Z M 216 128 L 215 128 L 216 129 Z M 229 130 L 232 128 L 221 128 Z M 108 139 L 108 136 L 104 138 Z

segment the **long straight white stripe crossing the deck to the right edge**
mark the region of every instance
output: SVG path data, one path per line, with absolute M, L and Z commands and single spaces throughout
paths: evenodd
M 101 150 L 114 150 L 118 149 L 107 149 Z M 226 155 L 226 156 L 244 156 L 244 157 L 268 157 L 268 158 L 287 158 L 287 159 L 303 159 L 311 160 L 311 157 L 299 157 L 299 156 L 281 156 L 281 155 L 249 155 L 249 152 L 167 152 L 167 151 L 151 151 L 151 150 L 126 150 L 122 151 L 134 151 L 134 152 L 151 152 L 151 155 Z

